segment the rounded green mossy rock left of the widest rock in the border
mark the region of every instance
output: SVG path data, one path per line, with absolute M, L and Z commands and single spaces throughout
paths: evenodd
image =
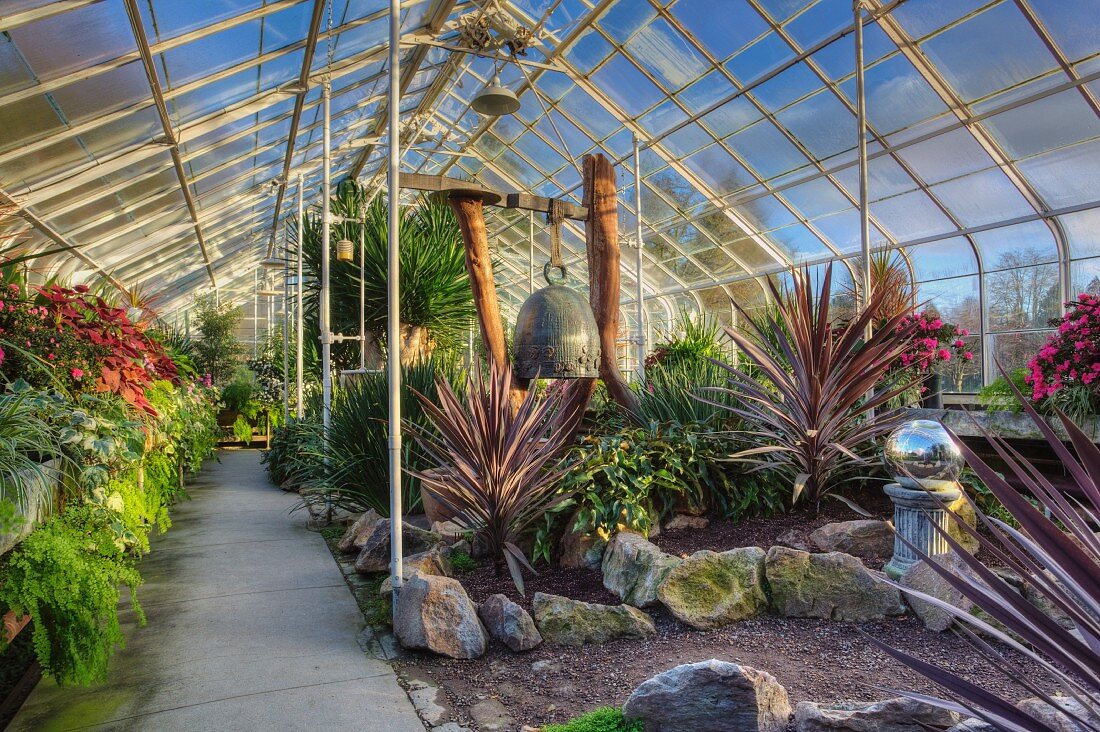
M 696 551 L 668 573 L 657 596 L 678 620 L 700 630 L 752 618 L 768 609 L 763 560 L 756 546 Z

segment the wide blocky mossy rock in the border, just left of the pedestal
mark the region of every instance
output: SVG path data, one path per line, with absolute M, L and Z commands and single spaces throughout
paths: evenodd
M 901 615 L 901 593 L 856 557 L 773 546 L 765 558 L 772 609 L 788 618 L 865 621 Z

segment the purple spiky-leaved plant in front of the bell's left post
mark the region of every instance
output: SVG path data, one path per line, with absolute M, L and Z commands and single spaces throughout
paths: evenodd
M 497 571 L 507 565 L 522 593 L 521 568 L 535 568 L 516 543 L 569 498 L 556 488 L 581 408 L 566 401 L 568 390 L 548 390 L 541 400 L 528 390 L 513 414 L 512 368 L 495 361 L 487 374 L 470 374 L 465 404 L 444 379 L 436 379 L 436 390 L 438 404 L 417 395 L 435 430 L 407 425 L 433 469 L 409 473 L 484 542 Z

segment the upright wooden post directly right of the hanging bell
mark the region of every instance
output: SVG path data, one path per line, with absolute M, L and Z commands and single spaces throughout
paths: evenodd
M 588 302 L 600 328 L 600 378 L 629 414 L 640 408 L 618 368 L 619 242 L 615 168 L 604 155 L 584 156 L 585 245 L 588 253 Z

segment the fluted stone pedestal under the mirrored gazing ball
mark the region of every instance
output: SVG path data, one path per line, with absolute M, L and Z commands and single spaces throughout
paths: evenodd
M 884 567 L 887 575 L 899 579 L 905 570 L 921 558 L 902 540 L 910 544 L 930 557 L 946 554 L 949 550 L 947 542 L 936 531 L 936 526 L 947 531 L 953 521 L 950 512 L 942 507 L 958 500 L 961 492 L 958 488 L 936 487 L 935 491 L 906 488 L 900 483 L 889 483 L 884 489 L 894 504 L 894 554 Z M 938 500 L 937 500 L 938 499 Z

